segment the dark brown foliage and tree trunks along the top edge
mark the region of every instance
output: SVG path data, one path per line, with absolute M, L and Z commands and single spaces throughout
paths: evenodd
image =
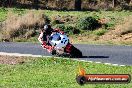
M 48 8 L 57 10 L 76 10 L 80 6 L 82 10 L 114 10 L 121 8 L 131 10 L 131 0 L 1 0 L 0 6 L 19 8 Z M 37 6 L 36 6 L 37 4 Z

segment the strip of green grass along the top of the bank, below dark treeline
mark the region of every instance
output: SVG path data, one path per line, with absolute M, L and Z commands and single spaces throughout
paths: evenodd
M 6 19 L 7 16 L 7 12 L 13 12 L 16 14 L 24 14 L 27 11 L 29 11 L 28 9 L 18 9 L 18 8 L 0 8 L 0 17 L 1 17 L 1 21 L 2 19 Z M 122 20 L 122 18 L 132 15 L 132 12 L 130 11 L 52 11 L 52 10 L 34 10 L 36 11 L 36 13 L 38 11 L 42 11 L 44 12 L 49 18 L 53 17 L 53 16 L 75 16 L 78 18 L 82 18 L 82 17 L 86 17 L 86 16 L 99 16 L 100 18 L 111 18 L 111 23 L 115 24 L 117 21 L 119 22 L 119 20 Z

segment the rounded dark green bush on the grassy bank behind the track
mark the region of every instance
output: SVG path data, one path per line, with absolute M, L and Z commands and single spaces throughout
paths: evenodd
M 94 30 L 97 28 L 100 24 L 94 17 L 84 17 L 79 20 L 79 22 L 76 24 L 77 29 L 81 30 Z

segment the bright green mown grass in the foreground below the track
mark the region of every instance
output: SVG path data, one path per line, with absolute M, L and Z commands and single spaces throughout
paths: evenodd
M 28 59 L 28 58 L 27 58 Z M 17 65 L 0 64 L 2 88 L 132 88 L 129 84 L 87 84 L 80 86 L 75 77 L 80 63 L 87 74 L 131 74 L 132 66 L 118 67 L 66 59 L 36 58 Z

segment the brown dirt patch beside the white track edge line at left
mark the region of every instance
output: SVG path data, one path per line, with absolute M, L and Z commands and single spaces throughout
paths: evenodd
M 0 64 L 23 64 L 27 62 L 28 58 L 26 57 L 15 57 L 15 56 L 3 56 L 0 55 Z

